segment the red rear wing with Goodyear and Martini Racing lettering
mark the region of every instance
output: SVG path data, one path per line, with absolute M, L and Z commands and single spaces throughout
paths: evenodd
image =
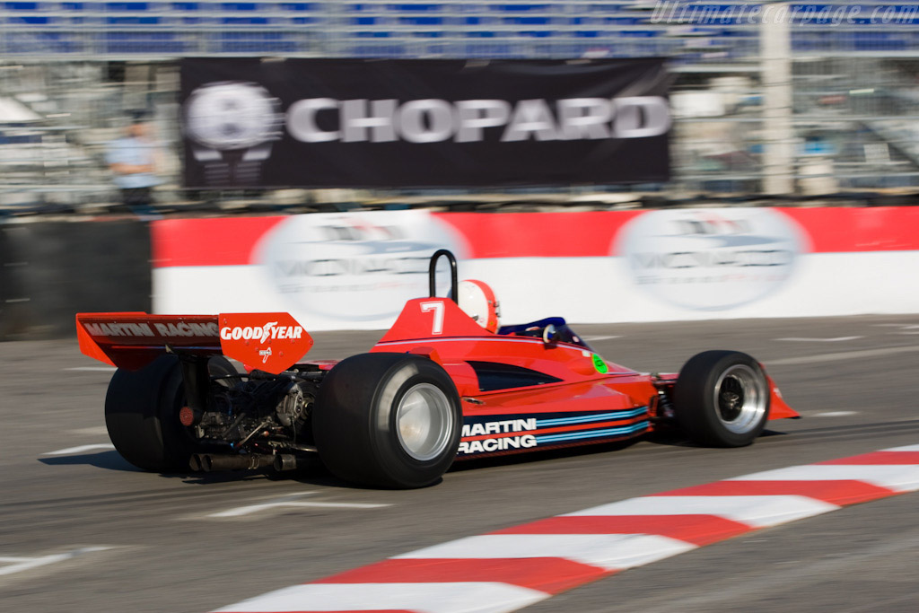
M 86 356 L 129 370 L 141 369 L 164 353 L 222 354 L 246 368 L 278 374 L 312 348 L 312 337 L 286 312 L 77 313 L 76 335 Z

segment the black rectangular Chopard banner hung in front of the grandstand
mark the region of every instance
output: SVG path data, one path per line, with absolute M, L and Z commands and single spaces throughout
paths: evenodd
M 187 187 L 667 180 L 659 59 L 187 59 Z

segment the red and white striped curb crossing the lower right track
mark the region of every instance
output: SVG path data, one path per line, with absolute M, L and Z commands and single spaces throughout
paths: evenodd
M 218 609 L 501 613 L 635 566 L 919 490 L 919 445 L 754 472 L 452 540 Z

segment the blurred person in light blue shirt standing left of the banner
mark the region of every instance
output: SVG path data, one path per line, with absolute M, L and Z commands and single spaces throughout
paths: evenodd
M 160 145 L 153 140 L 146 113 L 133 113 L 126 135 L 108 143 L 106 153 L 108 167 L 115 173 L 115 185 L 126 207 L 144 208 L 153 202 L 153 186 L 160 184 L 156 176 L 160 157 Z

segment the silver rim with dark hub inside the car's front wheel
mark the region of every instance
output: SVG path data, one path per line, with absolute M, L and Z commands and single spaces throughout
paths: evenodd
M 735 364 L 715 384 L 715 407 L 721 424 L 734 434 L 753 430 L 766 413 L 766 385 L 754 369 Z

